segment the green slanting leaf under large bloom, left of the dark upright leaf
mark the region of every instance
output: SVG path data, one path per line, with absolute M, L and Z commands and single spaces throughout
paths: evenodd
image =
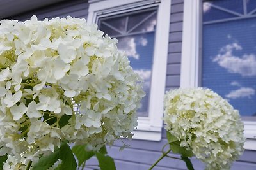
M 40 157 L 39 161 L 33 166 L 33 170 L 45 170 L 52 167 L 55 162 L 60 158 L 60 148 L 48 156 Z

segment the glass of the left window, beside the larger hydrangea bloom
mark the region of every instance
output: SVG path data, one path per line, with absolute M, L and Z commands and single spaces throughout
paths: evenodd
M 118 50 L 125 51 L 131 66 L 144 80 L 146 96 L 141 101 L 138 116 L 148 117 L 151 75 L 156 31 L 156 9 L 100 18 L 99 29 L 118 39 Z M 117 30 L 116 30 L 117 29 Z M 118 34 L 116 31 L 119 31 Z

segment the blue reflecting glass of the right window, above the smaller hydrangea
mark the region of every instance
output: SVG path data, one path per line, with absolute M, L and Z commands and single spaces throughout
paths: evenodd
M 203 20 L 209 11 L 203 4 Z M 227 9 L 230 1 L 218 4 Z M 232 0 L 228 10 L 245 9 L 251 1 Z M 210 9 L 211 10 L 211 9 Z M 252 10 L 251 10 L 252 11 Z M 239 110 L 244 120 L 256 120 L 256 16 L 249 11 L 230 20 L 214 18 L 202 25 L 202 86 L 209 87 Z M 249 118 L 249 119 L 248 119 Z

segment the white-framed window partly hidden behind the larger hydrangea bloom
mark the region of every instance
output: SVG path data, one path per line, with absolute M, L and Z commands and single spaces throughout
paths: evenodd
M 163 126 L 170 0 L 89 1 L 88 23 L 118 39 L 131 66 L 144 80 L 135 139 L 159 141 Z M 168 13 L 168 15 L 166 15 Z

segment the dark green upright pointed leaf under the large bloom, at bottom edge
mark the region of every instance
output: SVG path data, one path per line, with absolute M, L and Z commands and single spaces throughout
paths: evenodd
M 76 170 L 76 159 L 67 143 L 63 143 L 60 147 L 60 159 L 62 160 L 60 169 Z

